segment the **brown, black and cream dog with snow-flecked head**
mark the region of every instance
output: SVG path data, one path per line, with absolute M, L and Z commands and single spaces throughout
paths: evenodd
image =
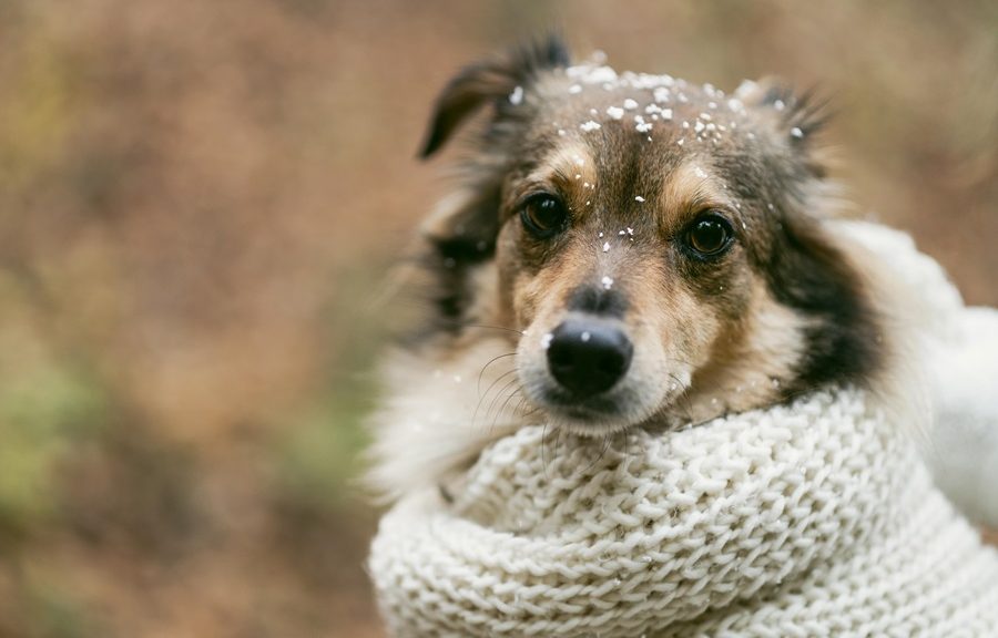
M 386 366 L 383 491 L 525 424 L 600 441 L 888 374 L 867 256 L 826 227 L 813 95 L 573 65 L 549 38 L 454 78 L 422 157 L 482 107 L 407 269 L 428 312 Z

